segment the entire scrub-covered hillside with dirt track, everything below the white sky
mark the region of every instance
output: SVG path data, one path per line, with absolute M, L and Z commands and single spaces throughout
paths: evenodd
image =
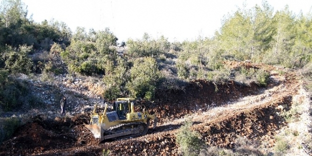
M 311 156 L 312 12 L 246 7 L 212 37 L 119 43 L 108 27 L 35 22 L 21 0 L 2 0 L 0 156 Z M 157 128 L 99 144 L 83 124 L 119 97 Z M 119 126 L 107 133 L 135 127 Z

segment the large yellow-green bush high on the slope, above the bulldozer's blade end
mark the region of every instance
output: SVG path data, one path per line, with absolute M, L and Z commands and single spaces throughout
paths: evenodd
M 79 32 L 83 34 L 82 32 Z M 110 61 L 116 61 L 116 49 L 111 46 L 116 45 L 117 38 L 109 29 L 105 31 L 92 32 L 90 40 L 77 40 L 73 38 L 66 51 L 60 53 L 61 58 L 68 65 L 70 73 L 80 73 L 82 75 L 105 74 L 106 65 Z M 80 35 L 75 35 L 79 38 Z M 81 36 L 80 36 L 81 37 Z

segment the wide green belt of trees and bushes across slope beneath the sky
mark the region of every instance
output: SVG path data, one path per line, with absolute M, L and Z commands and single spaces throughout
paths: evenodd
M 195 79 L 265 86 L 269 76 L 265 70 L 230 69 L 224 61 L 304 67 L 312 59 L 312 12 L 296 15 L 288 6 L 274 11 L 264 2 L 225 16 L 212 38 L 181 43 L 145 33 L 141 39 L 128 39 L 125 48 L 117 48 L 117 41 L 108 28 L 86 31 L 77 27 L 72 32 L 64 22 L 34 22 L 27 18 L 21 0 L 2 0 L 0 106 L 8 111 L 18 103 L 38 104 L 33 97 L 24 100 L 30 96 L 23 89 L 27 85 L 10 80 L 17 73 L 102 77 L 107 99 L 133 96 L 150 100 L 157 88 L 179 88 Z

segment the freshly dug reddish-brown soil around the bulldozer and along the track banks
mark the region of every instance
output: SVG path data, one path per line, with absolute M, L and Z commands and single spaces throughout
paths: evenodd
M 287 77 L 287 81 L 281 83 L 296 92 L 297 83 L 292 76 Z M 0 156 L 101 156 L 103 149 L 110 150 L 111 156 L 178 156 L 175 135 L 182 123 L 171 121 L 195 112 L 200 119 L 194 122 L 193 129 L 200 132 L 208 146 L 231 149 L 238 136 L 272 141 L 270 136 L 286 125 L 284 119 L 277 116 L 281 111 L 277 107 L 283 105 L 286 110 L 290 109 L 290 93 L 274 95 L 274 100 L 262 105 L 222 112 L 214 118 L 201 113 L 245 96 L 261 94 L 277 85 L 279 83 L 271 82 L 263 88 L 233 81 L 214 84 L 198 80 L 183 90 L 157 91 L 155 102 L 148 105 L 148 111 L 160 119 L 156 130 L 149 130 L 145 136 L 104 143 L 98 143 L 83 126 L 88 124 L 89 114 L 55 120 L 37 116 L 0 145 Z

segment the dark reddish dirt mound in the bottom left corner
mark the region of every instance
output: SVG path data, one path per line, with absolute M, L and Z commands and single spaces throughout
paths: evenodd
M 38 155 L 43 151 L 66 149 L 76 142 L 76 138 L 68 133 L 56 133 L 44 129 L 38 123 L 27 123 L 15 133 L 15 137 L 4 142 L 0 155 Z

